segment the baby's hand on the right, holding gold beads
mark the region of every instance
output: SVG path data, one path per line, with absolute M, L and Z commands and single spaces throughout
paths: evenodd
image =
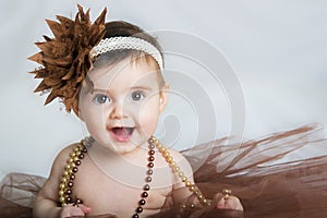
M 219 199 L 217 203 L 218 209 L 238 209 L 243 210 L 243 206 L 240 199 L 231 194 L 230 190 L 223 190 L 223 194 L 218 193 L 215 195 L 216 199 Z

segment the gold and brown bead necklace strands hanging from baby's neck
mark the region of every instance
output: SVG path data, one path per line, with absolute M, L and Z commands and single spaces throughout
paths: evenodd
M 68 204 L 83 204 L 82 199 L 76 198 L 73 201 L 72 193 L 74 186 L 75 174 L 78 172 L 78 166 L 82 164 L 82 159 L 84 159 L 85 154 L 87 153 L 87 147 L 90 147 L 94 143 L 93 137 L 86 137 L 81 141 L 81 143 L 73 148 L 73 152 L 70 154 L 70 157 L 64 166 L 64 170 L 61 178 L 61 183 L 59 185 L 59 202 L 62 207 Z M 154 160 L 155 160 L 155 148 L 161 153 L 162 157 L 166 159 L 170 168 L 178 174 L 180 180 L 185 184 L 186 187 L 191 192 L 193 192 L 199 203 L 204 206 L 209 206 L 210 201 L 205 198 L 204 195 L 201 193 L 198 187 L 193 184 L 181 171 L 180 167 L 175 164 L 173 158 L 171 157 L 170 153 L 164 147 L 160 142 L 155 137 L 150 136 L 148 140 L 148 164 L 147 164 L 147 171 L 145 178 L 145 185 L 143 186 L 143 192 L 141 193 L 141 199 L 138 201 L 138 205 L 135 209 L 135 214 L 133 214 L 133 218 L 138 218 L 140 214 L 143 213 L 143 207 L 146 204 L 146 198 L 148 197 L 148 191 L 150 190 L 149 183 L 152 182 L 153 178 L 152 174 L 154 173 Z M 184 205 L 183 205 L 184 206 Z M 191 207 L 194 207 L 192 204 Z

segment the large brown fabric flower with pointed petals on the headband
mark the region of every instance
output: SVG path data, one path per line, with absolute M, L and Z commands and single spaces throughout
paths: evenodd
M 78 94 L 87 71 L 93 65 L 92 49 L 105 35 L 107 9 L 92 24 L 89 10 L 84 13 L 78 7 L 75 20 L 57 15 L 56 21 L 47 20 L 53 38 L 44 36 L 45 41 L 35 45 L 41 50 L 28 59 L 41 64 L 32 71 L 35 78 L 43 78 L 34 90 L 50 92 L 45 105 L 60 98 L 65 110 L 78 114 Z

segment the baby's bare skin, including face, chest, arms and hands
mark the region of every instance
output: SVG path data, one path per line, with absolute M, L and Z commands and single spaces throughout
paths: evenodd
M 73 198 L 83 199 L 83 204 L 60 207 L 58 202 L 62 172 L 76 146 L 71 145 L 52 165 L 50 177 L 35 202 L 35 218 L 104 214 L 131 217 L 135 213 L 145 184 L 147 138 L 155 132 L 167 102 L 167 93 L 162 89 L 168 86 L 159 85 L 156 70 L 156 64 L 146 60 L 137 63 L 126 60 L 90 72 L 96 92 L 82 95 L 80 118 L 96 142 L 78 167 L 72 194 Z M 116 128 L 132 128 L 133 131 L 121 134 L 113 131 Z M 187 160 L 175 150 L 169 152 L 184 175 L 194 183 Z M 149 196 L 141 217 L 160 211 L 168 203 L 184 203 L 192 195 L 187 189 L 181 189 L 184 183 L 159 152 L 155 154 L 154 162 Z M 196 199 L 193 203 L 198 204 Z M 234 196 L 220 199 L 217 208 L 243 210 Z

